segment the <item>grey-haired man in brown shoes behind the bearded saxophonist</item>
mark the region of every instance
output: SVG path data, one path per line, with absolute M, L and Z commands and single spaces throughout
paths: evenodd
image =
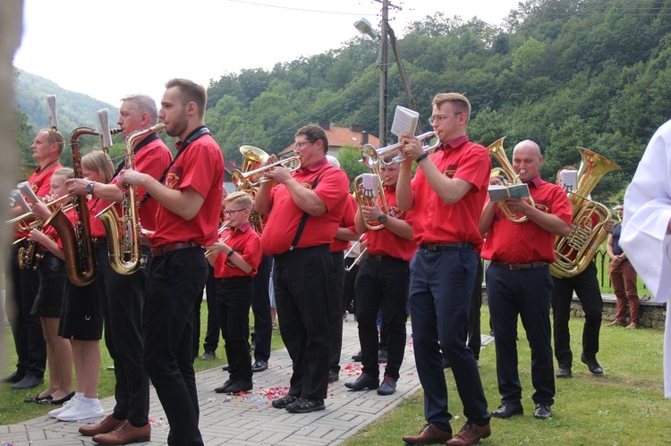
M 146 95 L 123 97 L 117 124 L 121 126 L 123 138 L 157 124 L 158 111 L 153 98 Z M 173 159 L 156 132 L 147 133 L 134 141 L 135 168 L 154 179 L 161 174 Z M 86 179 L 67 181 L 70 194 L 91 193 L 105 202 L 115 202 L 118 215 L 122 215 L 119 203 L 123 199 L 123 183 L 118 173 L 125 162 L 116 169 L 115 177 L 109 184 L 91 182 Z M 138 215 L 142 228 L 154 231 L 156 228 L 156 199 L 144 199 L 146 189 L 136 188 L 137 200 L 141 203 Z M 95 436 L 105 444 L 125 444 L 129 441 L 149 438 L 149 377 L 142 365 L 145 290 L 151 270 L 149 244 L 141 247 L 141 255 L 146 264 L 135 273 L 116 273 L 109 261 L 108 245 L 98 240 L 98 273 L 103 293 L 103 313 L 105 315 L 105 343 L 115 363 L 116 406 L 111 415 L 98 425 L 81 426 L 80 433 Z M 126 421 L 127 420 L 127 421 Z M 117 427 L 122 428 L 117 430 Z

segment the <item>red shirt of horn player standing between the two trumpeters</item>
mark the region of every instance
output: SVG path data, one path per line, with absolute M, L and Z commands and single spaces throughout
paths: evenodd
M 412 226 L 412 217 L 414 211 L 403 212 L 398 208 L 396 202 L 396 188 L 385 187 L 386 205 L 389 207 L 389 216 L 403 220 Z M 396 258 L 403 258 L 406 262 L 410 262 L 417 250 L 417 242 L 415 240 L 403 239 L 397 236 L 394 232 L 386 228 L 378 231 L 367 231 L 366 238 L 368 240 L 368 252 L 371 256 L 391 256 Z

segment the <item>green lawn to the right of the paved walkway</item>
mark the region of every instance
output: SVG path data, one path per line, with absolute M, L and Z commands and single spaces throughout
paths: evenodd
M 572 318 L 573 377 L 556 380 L 554 417 L 532 417 L 531 358 L 519 325 L 520 378 L 524 416 L 492 419 L 492 435 L 482 444 L 671 444 L 671 400 L 663 398 L 663 332 L 653 329 L 624 330 L 602 327 L 599 362 L 605 369 L 594 376 L 580 362 L 583 319 Z M 488 326 L 488 308 L 482 308 L 482 326 Z M 490 410 L 500 404 L 496 355 L 489 344 L 480 353 L 480 376 Z M 403 379 L 403 378 L 402 378 Z M 446 370 L 452 427 L 465 419 L 452 372 Z M 364 428 L 345 445 L 403 444 L 403 435 L 420 432 L 424 419 L 423 391 Z

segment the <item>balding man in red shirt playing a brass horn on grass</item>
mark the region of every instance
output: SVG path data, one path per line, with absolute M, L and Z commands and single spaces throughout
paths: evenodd
M 529 186 L 534 205 L 520 198 L 505 198 L 505 206 L 528 221 L 507 219 L 497 202 L 482 211 L 480 232 L 487 233 L 482 258 L 487 268 L 487 296 L 497 349 L 497 380 L 501 407 L 492 417 L 508 418 L 523 413 L 522 384 L 517 371 L 517 316 L 522 317 L 531 347 L 531 382 L 536 391 L 533 416 L 552 417 L 555 374 L 550 339 L 552 279 L 549 264 L 555 261 L 555 236 L 571 231 L 571 204 L 563 189 L 539 175 L 543 162 L 538 144 L 524 140 L 513 151 L 513 168 Z

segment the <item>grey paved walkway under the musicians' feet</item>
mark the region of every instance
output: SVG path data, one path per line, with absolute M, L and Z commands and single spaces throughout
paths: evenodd
M 412 350 L 411 328 L 408 323 L 408 342 L 401 367 L 401 379 L 396 392 L 380 396 L 376 391 L 350 391 L 344 383 L 353 381 L 361 373 L 361 363 L 352 363 L 351 356 L 359 350 L 356 322 L 352 316 L 344 322 L 343 369 L 340 381 L 329 384 L 326 410 L 310 414 L 291 414 L 276 409 L 270 401 L 284 396 L 288 390 L 291 359 L 286 349 L 272 353 L 267 371 L 254 374 L 254 390 L 244 396 L 230 396 L 214 392 L 224 383 L 227 373 L 219 367 L 196 374 L 200 401 L 200 432 L 208 446 L 220 444 L 277 444 L 326 445 L 338 444 L 358 433 L 365 425 L 395 408 L 402 400 L 420 389 Z M 491 339 L 483 335 L 483 343 Z M 380 367 L 380 374 L 384 367 Z M 166 414 L 151 389 L 152 425 L 151 442 L 146 445 L 166 444 L 168 426 Z M 101 400 L 106 413 L 114 408 L 114 398 Z M 88 420 L 97 423 L 99 419 Z M 50 417 L 38 417 L 21 425 L 0 426 L 0 446 L 90 445 L 89 437 L 77 431 L 87 422 L 63 423 Z M 140 443 L 134 443 L 140 444 Z

